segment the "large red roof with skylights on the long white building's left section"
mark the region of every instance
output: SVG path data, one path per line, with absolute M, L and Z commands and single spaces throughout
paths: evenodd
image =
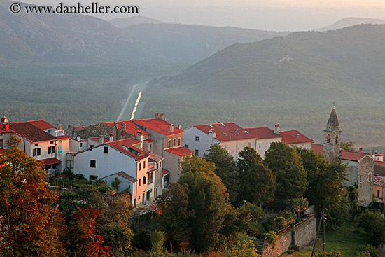
M 254 136 L 250 132 L 246 132 L 243 127 L 235 123 L 211 123 L 194 125 L 198 130 L 209 134 L 210 130 L 216 133 L 215 138 L 218 141 L 232 141 L 241 139 L 252 139 Z

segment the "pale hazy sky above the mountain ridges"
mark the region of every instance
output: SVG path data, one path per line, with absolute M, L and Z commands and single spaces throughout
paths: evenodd
M 21 0 L 55 5 L 78 0 Z M 97 1 L 97 0 L 94 0 Z M 80 1 L 82 4 L 94 2 Z M 385 0 L 99 0 L 100 4 L 139 6 L 139 15 L 166 22 L 268 30 L 309 30 L 345 17 L 385 19 Z M 132 15 L 103 15 L 109 20 Z M 101 17 L 101 16 L 99 16 Z

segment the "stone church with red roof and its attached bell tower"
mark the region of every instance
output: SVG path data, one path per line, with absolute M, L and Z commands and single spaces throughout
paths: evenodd
M 345 151 L 341 149 L 341 130 L 337 113 L 333 107 L 326 129 L 323 144 L 313 144 L 314 153 L 323 155 L 328 161 L 339 158 L 347 165 L 348 181 L 345 186 L 357 186 L 358 204 L 367 207 L 372 202 L 374 186 L 374 158 L 360 151 Z M 380 158 L 380 156 L 378 156 Z

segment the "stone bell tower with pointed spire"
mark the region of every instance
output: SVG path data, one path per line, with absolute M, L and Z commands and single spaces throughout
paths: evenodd
M 341 130 L 339 130 L 339 122 L 335 106 L 333 106 L 332 113 L 328 123 L 326 123 L 326 130 L 323 139 L 323 157 L 331 162 L 339 156 L 339 149 L 341 147 Z

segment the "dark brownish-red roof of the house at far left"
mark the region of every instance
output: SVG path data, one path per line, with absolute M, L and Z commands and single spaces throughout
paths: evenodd
M 27 121 L 9 123 L 9 125 L 16 134 L 18 134 L 20 137 L 24 137 L 32 143 L 56 140 L 56 137 L 52 136 L 52 134 L 48 134 L 44 130 L 41 130 L 40 128 L 32 125 Z

